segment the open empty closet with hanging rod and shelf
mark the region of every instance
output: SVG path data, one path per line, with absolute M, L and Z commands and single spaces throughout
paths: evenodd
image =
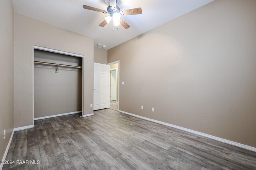
M 82 58 L 34 49 L 34 119 L 82 112 Z

